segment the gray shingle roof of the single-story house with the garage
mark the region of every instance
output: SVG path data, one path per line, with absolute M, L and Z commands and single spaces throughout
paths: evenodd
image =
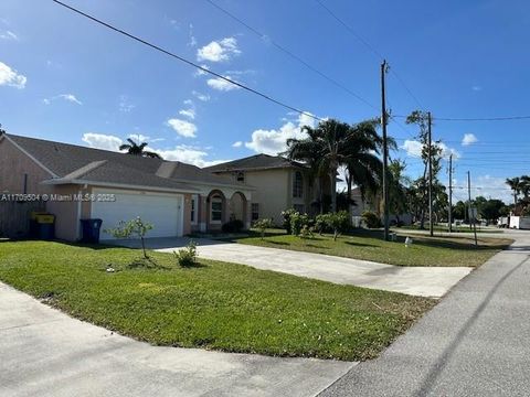
M 178 161 L 141 158 L 108 150 L 7 135 L 59 179 L 195 191 L 191 184 L 250 186 Z M 172 169 L 172 171 L 171 171 Z M 158 173 L 157 171 L 163 170 Z M 169 173 L 168 173 L 169 171 Z M 169 178 L 163 178 L 169 176 Z

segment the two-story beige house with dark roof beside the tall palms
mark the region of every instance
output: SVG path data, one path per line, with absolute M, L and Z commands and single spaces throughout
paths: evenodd
M 287 208 L 312 213 L 312 181 L 308 168 L 300 162 L 279 155 L 256 154 L 204 170 L 255 187 L 252 193 L 252 221 L 272 218 L 279 225 L 282 212 Z

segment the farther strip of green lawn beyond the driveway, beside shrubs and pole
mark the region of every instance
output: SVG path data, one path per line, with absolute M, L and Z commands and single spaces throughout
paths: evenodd
M 492 255 L 513 243 L 506 238 L 479 238 L 474 246 L 473 236 L 428 237 L 411 234 L 414 243 L 405 247 L 405 235 L 396 242 L 384 242 L 382 232 L 358 230 L 333 242 L 329 235 L 316 234 L 307 240 L 279 229 L 268 230 L 261 239 L 257 233 L 233 239 L 241 244 L 303 250 L 347 258 L 372 260 L 399 266 L 470 266 L 484 264 Z

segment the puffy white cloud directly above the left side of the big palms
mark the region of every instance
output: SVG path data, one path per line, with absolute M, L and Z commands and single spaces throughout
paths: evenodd
M 299 115 L 298 120 L 287 121 L 279 129 L 264 130 L 258 129 L 252 132 L 252 140 L 245 142 L 245 147 L 254 150 L 256 153 L 276 155 L 287 149 L 287 139 L 303 139 L 307 135 L 301 131 L 301 127 L 315 126 L 315 119 L 308 115 Z

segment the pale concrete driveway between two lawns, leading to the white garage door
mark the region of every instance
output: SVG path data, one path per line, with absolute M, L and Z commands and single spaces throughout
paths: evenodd
M 172 253 L 188 243 L 188 238 L 151 238 L 147 240 L 147 246 L 160 253 Z M 473 270 L 468 267 L 392 266 L 205 238 L 197 243 L 198 255 L 205 259 L 420 297 L 441 298 Z M 138 240 L 115 240 L 113 244 L 139 247 Z

